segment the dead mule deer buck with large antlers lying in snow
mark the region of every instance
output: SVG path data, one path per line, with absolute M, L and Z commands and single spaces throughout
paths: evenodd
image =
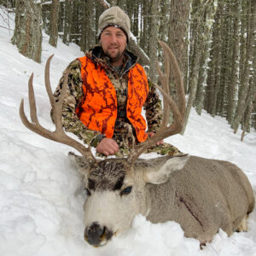
M 143 152 L 160 140 L 177 134 L 183 126 L 185 96 L 183 81 L 172 50 L 163 42 L 165 73 L 160 71 L 165 117 L 160 131 L 144 143 L 135 144 L 127 158 L 97 160 L 82 143 L 68 137 L 61 124 L 61 108 L 67 88 L 67 73 L 61 98 L 55 102 L 49 84 L 49 57 L 45 67 L 45 86 L 54 108 L 55 131 L 46 130 L 38 122 L 32 76 L 29 80 L 29 102 L 32 122 L 20 102 L 20 118 L 24 125 L 39 135 L 67 144 L 82 156 L 72 154 L 84 177 L 88 192 L 84 202 L 84 239 L 91 245 L 106 244 L 113 235 L 128 230 L 132 219 L 141 213 L 152 223 L 173 220 L 184 235 L 205 243 L 219 229 L 228 236 L 247 230 L 247 215 L 253 211 L 253 189 L 241 170 L 223 160 L 183 155 L 139 159 Z M 169 96 L 170 65 L 174 70 L 177 104 Z M 167 126 L 172 109 L 174 121 Z

